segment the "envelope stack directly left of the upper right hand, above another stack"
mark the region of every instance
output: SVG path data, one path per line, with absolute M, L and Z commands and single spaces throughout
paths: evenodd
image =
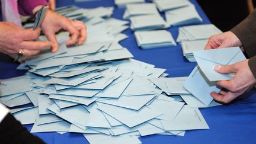
M 219 28 L 213 24 L 191 25 L 179 28 L 177 41 L 203 40 L 209 39 L 210 36 L 222 33 Z

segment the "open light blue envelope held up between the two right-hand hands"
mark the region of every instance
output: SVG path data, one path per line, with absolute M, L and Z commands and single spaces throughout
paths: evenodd
M 194 52 L 194 57 L 201 71 L 209 81 L 223 81 L 231 79 L 233 74 L 222 74 L 214 70 L 216 65 L 232 65 L 233 63 L 245 60 L 246 57 L 239 47 L 225 49 L 200 50 Z

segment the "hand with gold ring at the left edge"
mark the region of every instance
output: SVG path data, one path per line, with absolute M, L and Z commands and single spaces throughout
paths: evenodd
M 34 41 L 39 36 L 39 28 L 24 29 L 13 23 L 0 22 L 0 52 L 17 54 L 24 49 L 24 56 L 36 55 L 41 49 L 52 46 L 49 41 Z

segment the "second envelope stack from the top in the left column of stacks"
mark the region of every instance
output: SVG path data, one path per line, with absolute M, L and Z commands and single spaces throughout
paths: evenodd
M 156 5 L 153 3 L 129 4 L 124 11 L 123 19 L 129 20 L 136 15 L 159 14 Z

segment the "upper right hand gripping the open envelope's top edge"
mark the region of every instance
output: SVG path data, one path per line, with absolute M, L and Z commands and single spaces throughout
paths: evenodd
M 216 34 L 210 37 L 204 49 L 205 50 L 220 49 L 224 47 L 236 47 L 236 46 L 240 47 L 241 50 L 244 52 L 244 47 L 242 47 L 242 43 L 238 39 L 238 37 L 236 37 L 236 35 L 231 31 L 228 31 L 228 32 Z

